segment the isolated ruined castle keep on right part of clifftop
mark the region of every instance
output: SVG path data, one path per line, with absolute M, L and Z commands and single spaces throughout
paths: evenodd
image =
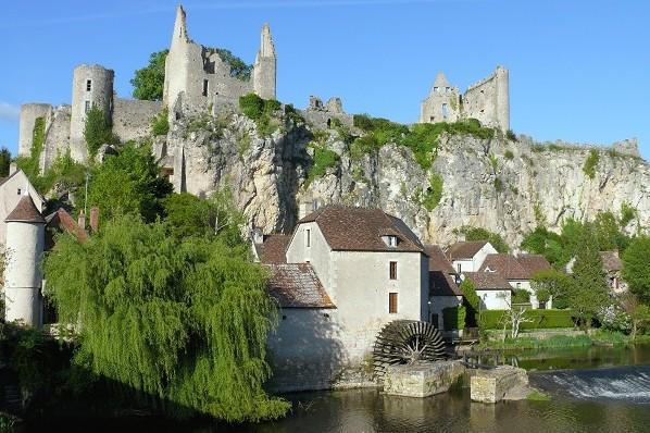
M 485 126 L 510 129 L 510 90 L 508 70 L 497 66 L 495 73 L 467 88 L 458 87 L 438 73 L 429 95 L 422 101 L 420 123 L 457 122 L 477 119 Z

